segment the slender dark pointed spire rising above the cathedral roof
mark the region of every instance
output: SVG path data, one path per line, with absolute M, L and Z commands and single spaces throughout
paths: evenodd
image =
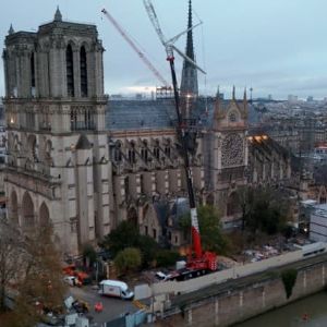
M 187 29 L 192 28 L 192 0 L 189 0 L 189 16 L 187 16 Z M 195 62 L 194 47 L 193 47 L 193 31 L 187 32 L 186 38 L 186 56 Z M 182 71 L 182 81 L 181 81 L 181 94 L 182 96 L 197 96 L 197 70 L 196 68 L 184 59 L 183 71 Z

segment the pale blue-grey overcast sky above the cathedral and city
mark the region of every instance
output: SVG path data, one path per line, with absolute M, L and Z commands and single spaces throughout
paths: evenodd
M 3 1 L 4 2 L 4 1 Z M 17 31 L 36 31 L 53 19 L 57 5 L 63 20 L 94 23 L 106 48 L 106 93 L 147 93 L 160 83 L 137 55 L 102 16 L 106 8 L 136 40 L 148 59 L 170 81 L 166 55 L 146 15 L 142 0 L 5 0 L 1 4 L 2 44 L 10 24 Z M 167 37 L 186 27 L 189 0 L 153 0 Z M 232 85 L 241 96 L 244 86 L 254 97 L 288 94 L 327 96 L 326 0 L 193 0 L 197 63 L 207 71 L 199 76 L 203 94 L 217 86 L 229 97 Z M 177 44 L 185 48 L 185 37 Z M 181 59 L 177 58 L 180 76 Z M 3 69 L 0 68 L 0 95 Z M 180 78 L 179 78 L 180 80 Z

